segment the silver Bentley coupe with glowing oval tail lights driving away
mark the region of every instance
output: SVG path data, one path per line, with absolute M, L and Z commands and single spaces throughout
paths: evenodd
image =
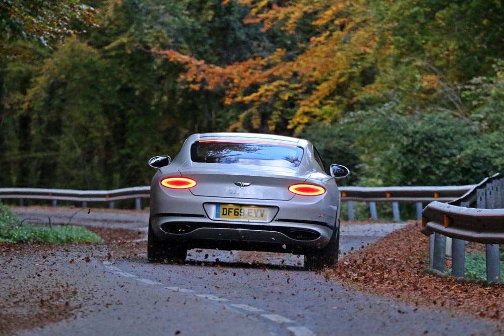
M 304 139 L 256 133 L 202 133 L 171 161 L 156 156 L 147 257 L 184 260 L 187 249 L 303 254 L 319 269 L 338 257 L 341 196 Z

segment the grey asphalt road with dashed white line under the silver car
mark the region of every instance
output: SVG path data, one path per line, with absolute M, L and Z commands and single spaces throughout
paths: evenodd
M 21 218 L 33 215 L 17 212 Z M 145 228 L 147 223 L 143 213 L 126 215 L 127 218 L 117 214 L 94 215 L 93 220 L 88 217 L 82 221 L 135 229 Z M 66 223 L 64 216 L 67 215 L 60 214 L 60 222 Z M 81 219 L 76 215 L 72 221 L 78 223 Z M 359 248 L 398 227 L 345 226 L 340 249 L 343 253 Z M 59 281 L 92 292 L 91 299 L 82 303 L 75 319 L 19 334 L 500 334 L 486 320 L 408 306 L 353 291 L 338 282 L 327 282 L 320 274 L 304 271 L 302 257 L 295 255 L 215 250 L 191 250 L 190 254 L 185 264 L 150 264 L 146 256 L 134 263 L 113 259 L 103 262 L 99 258 L 69 263 L 72 255 L 66 255 L 65 261 L 51 256 L 58 267 Z M 219 266 L 212 263 L 216 258 Z

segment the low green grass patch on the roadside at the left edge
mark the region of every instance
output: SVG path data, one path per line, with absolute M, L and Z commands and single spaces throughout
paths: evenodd
M 21 224 L 9 207 L 0 204 L 0 243 L 99 243 L 101 238 L 79 226 Z

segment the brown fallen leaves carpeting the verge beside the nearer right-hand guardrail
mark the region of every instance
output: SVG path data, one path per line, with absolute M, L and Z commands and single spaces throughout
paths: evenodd
M 454 278 L 423 274 L 428 267 L 428 238 L 420 223 L 405 228 L 340 259 L 324 271 L 328 280 L 351 288 L 384 295 L 406 303 L 452 309 L 475 316 L 502 320 L 504 284 L 485 287 Z M 447 266 L 450 262 L 447 262 Z

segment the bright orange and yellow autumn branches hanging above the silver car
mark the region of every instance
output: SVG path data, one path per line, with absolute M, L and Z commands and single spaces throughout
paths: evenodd
M 225 1 L 224 4 L 229 3 Z M 263 115 L 270 131 L 288 116 L 288 128 L 299 131 L 312 120 L 331 120 L 358 98 L 355 78 L 373 52 L 377 37 L 368 24 L 363 2 L 296 0 L 270 5 L 268 1 L 240 0 L 250 6 L 244 22 L 261 24 L 263 31 L 280 27 L 297 34 L 300 25 L 312 36 L 294 52 L 278 48 L 270 55 L 217 66 L 176 50 L 154 50 L 186 69 L 179 80 L 193 90 L 225 89 L 225 104 L 248 106 L 230 130 L 243 130 L 251 116 L 259 129 Z M 340 108 L 334 108 L 340 106 Z M 262 113 L 267 109 L 269 113 Z

